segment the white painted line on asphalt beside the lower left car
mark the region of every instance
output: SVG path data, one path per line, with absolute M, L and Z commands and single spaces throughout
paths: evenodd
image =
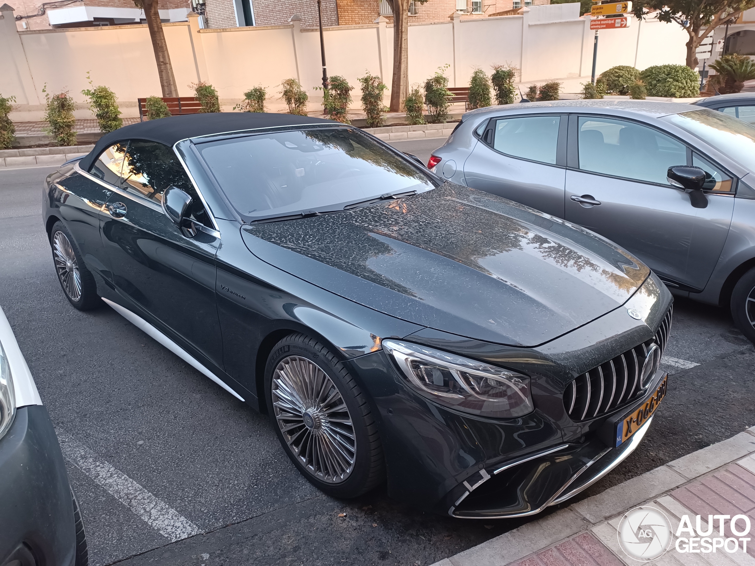
M 128 475 L 98 459 L 97 454 L 84 444 L 75 441 L 65 432 L 56 432 L 66 460 L 82 470 L 94 483 L 131 509 L 163 537 L 175 542 L 202 532 L 196 524 L 180 515 L 163 500 L 150 494 Z

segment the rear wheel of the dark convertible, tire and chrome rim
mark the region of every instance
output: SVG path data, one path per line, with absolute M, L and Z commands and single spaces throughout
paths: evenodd
M 57 280 L 69 303 L 79 310 L 100 306 L 94 275 L 87 269 L 71 232 L 60 220 L 50 231 L 50 245 Z

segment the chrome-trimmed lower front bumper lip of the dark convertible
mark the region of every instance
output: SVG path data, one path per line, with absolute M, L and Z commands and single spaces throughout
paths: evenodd
M 472 518 L 472 519 L 492 519 L 492 518 L 516 518 L 516 517 L 526 517 L 529 515 L 536 515 L 539 512 L 543 511 L 546 507 L 551 505 L 558 505 L 559 503 L 564 502 L 565 500 L 570 499 L 571 497 L 574 497 L 575 495 L 579 494 L 581 491 L 584 491 L 585 489 L 589 488 L 590 485 L 594 484 L 596 481 L 598 481 L 600 478 L 608 474 L 612 471 L 612 469 L 615 469 L 616 466 L 618 466 L 620 463 L 622 463 L 624 460 L 629 457 L 630 454 L 633 453 L 633 451 L 636 450 L 636 448 L 639 446 L 639 443 L 643 440 L 644 436 L 646 435 L 646 432 L 648 432 L 650 425 L 653 421 L 653 417 L 650 417 L 648 421 L 641 426 L 637 431 L 632 435 L 632 438 L 627 442 L 627 446 L 623 447 L 623 449 L 616 454 L 615 458 L 610 461 L 609 463 L 606 463 L 606 465 L 598 472 L 596 475 L 594 475 L 590 480 L 584 482 L 584 484 L 581 484 L 578 488 L 574 488 L 571 491 L 569 491 L 569 486 L 573 485 L 575 481 L 577 481 L 578 478 L 581 477 L 581 475 L 584 474 L 584 472 L 587 472 L 588 469 L 590 469 L 591 466 L 598 463 L 599 460 L 602 459 L 602 457 L 606 456 L 610 451 L 612 451 L 612 448 L 606 448 L 604 451 L 601 451 L 596 457 L 594 457 L 592 460 L 590 460 L 588 463 L 586 463 L 584 466 L 582 466 L 581 469 L 578 470 L 574 475 L 572 475 L 571 478 L 569 478 L 569 481 L 566 481 L 565 484 L 562 485 L 561 488 L 559 488 L 558 491 L 556 491 L 555 494 L 553 494 L 552 497 L 550 497 L 549 500 L 547 500 L 542 506 L 538 507 L 538 509 L 532 509 L 530 511 L 525 512 L 514 512 L 514 513 L 504 513 L 501 515 L 473 515 L 473 512 L 464 512 L 464 515 L 459 515 L 456 512 L 456 508 L 458 505 L 464 500 L 467 495 L 470 494 L 470 492 L 479 486 L 479 484 L 482 484 L 483 481 L 479 481 L 474 486 L 469 486 L 467 491 L 457 502 L 454 506 L 451 507 L 451 509 L 448 509 L 448 515 L 451 515 L 451 517 L 455 518 Z M 548 454 L 553 454 L 558 450 L 561 450 L 563 448 L 569 447 L 571 444 L 563 444 L 562 446 L 559 446 L 558 448 L 547 451 Z M 525 461 L 532 460 L 535 457 L 540 457 L 544 455 L 544 453 L 538 453 L 533 455 L 532 457 L 527 457 L 522 460 L 517 460 L 516 462 L 511 463 L 510 465 L 504 466 L 501 469 L 496 470 L 496 472 L 501 472 L 503 469 L 510 468 L 512 466 L 519 465 L 520 463 L 523 463 Z M 484 470 L 483 470 L 484 471 Z M 495 473 L 495 472 L 494 472 Z M 487 473 L 485 475 L 488 475 Z M 488 478 L 492 477 L 488 475 Z M 485 479 L 488 479 L 485 478 Z

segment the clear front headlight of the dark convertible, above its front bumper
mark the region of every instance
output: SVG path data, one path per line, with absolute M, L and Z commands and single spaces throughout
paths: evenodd
M 529 377 L 427 346 L 383 340 L 408 383 L 441 405 L 510 419 L 532 412 Z

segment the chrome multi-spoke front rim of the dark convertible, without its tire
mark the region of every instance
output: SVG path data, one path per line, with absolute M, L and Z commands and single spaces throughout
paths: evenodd
M 356 434 L 349 410 L 325 371 L 289 355 L 273 371 L 273 408 L 288 449 L 312 475 L 331 484 L 354 469 Z

